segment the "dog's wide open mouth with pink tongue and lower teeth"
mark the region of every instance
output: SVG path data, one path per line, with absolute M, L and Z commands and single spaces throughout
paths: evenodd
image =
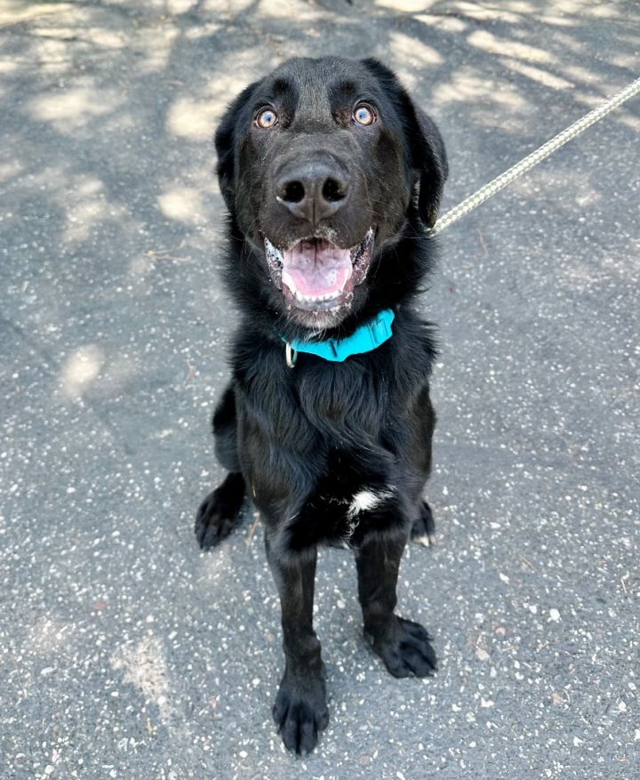
M 373 228 L 350 249 L 325 238 L 302 238 L 289 249 L 278 249 L 264 237 L 273 283 L 289 307 L 326 311 L 348 304 L 354 288 L 366 277 L 373 250 Z

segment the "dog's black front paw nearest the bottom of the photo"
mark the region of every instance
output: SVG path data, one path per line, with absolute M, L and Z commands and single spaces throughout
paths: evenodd
M 298 679 L 285 674 L 276 696 L 273 716 L 284 747 L 307 755 L 329 722 L 324 679 Z

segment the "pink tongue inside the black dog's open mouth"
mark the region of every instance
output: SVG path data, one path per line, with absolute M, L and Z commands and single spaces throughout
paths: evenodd
M 282 280 L 292 293 L 304 296 L 339 295 L 353 266 L 348 249 L 311 238 L 283 252 Z

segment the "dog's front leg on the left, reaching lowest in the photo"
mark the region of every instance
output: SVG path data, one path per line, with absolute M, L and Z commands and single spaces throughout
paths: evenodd
M 265 536 L 267 558 L 282 608 L 284 677 L 273 716 L 285 747 L 300 754 L 314 749 L 328 721 L 324 663 L 313 629 L 316 551 L 283 559 Z

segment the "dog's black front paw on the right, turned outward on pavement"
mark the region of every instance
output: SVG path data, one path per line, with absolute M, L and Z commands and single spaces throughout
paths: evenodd
M 437 669 L 431 637 L 420 623 L 392 615 L 383 631 L 364 636 L 394 677 L 428 677 Z

